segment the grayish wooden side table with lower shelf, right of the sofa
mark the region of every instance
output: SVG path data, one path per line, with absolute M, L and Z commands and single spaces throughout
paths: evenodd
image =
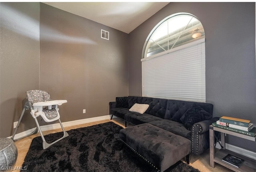
M 209 132 L 210 132 L 210 166 L 212 168 L 214 168 L 215 162 L 216 162 L 216 163 L 218 163 L 222 166 L 225 166 L 226 168 L 229 168 L 235 172 L 256 172 L 256 160 L 253 160 L 246 156 L 243 156 L 243 155 L 240 155 L 240 154 L 237 154 L 235 152 L 225 149 L 225 134 L 230 134 L 230 135 L 244 138 L 247 140 L 252 140 L 254 142 L 256 141 L 256 137 L 247 136 L 247 135 L 233 132 L 230 130 L 220 129 L 218 127 L 213 127 L 212 125 L 210 125 L 209 129 L 210 129 L 209 130 Z M 222 149 L 218 150 L 218 152 L 215 152 L 214 131 L 220 132 L 220 136 L 221 136 Z M 232 166 L 232 165 L 222 161 L 222 158 L 224 158 L 227 154 L 232 154 L 238 158 L 244 159 L 244 163 L 239 168 L 237 168 L 235 166 Z

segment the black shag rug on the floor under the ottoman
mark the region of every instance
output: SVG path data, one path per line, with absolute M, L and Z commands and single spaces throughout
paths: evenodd
M 119 139 L 122 129 L 108 122 L 67 131 L 69 136 L 42 148 L 42 138 L 34 138 L 26 154 L 22 169 L 28 172 L 154 172 L 145 162 Z M 63 132 L 48 134 L 47 142 L 63 136 Z M 199 172 L 181 161 L 166 172 Z

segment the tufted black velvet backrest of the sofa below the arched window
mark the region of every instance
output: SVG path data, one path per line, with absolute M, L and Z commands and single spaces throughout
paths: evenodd
M 202 107 L 210 114 L 213 112 L 213 105 L 210 103 L 128 96 L 128 108 L 131 108 L 135 103 L 148 104 L 149 107 L 145 112 L 147 114 L 154 115 L 163 119 L 177 121 L 179 123 L 182 123 L 180 118 L 194 103 Z

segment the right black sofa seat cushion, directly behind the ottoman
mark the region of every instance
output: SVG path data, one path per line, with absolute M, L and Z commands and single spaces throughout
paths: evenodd
M 187 130 L 182 123 L 178 123 L 176 121 L 170 121 L 168 119 L 160 119 L 157 121 L 149 122 L 149 124 L 159 127 L 161 129 L 170 131 L 174 134 L 183 136 L 191 140 L 192 132 Z

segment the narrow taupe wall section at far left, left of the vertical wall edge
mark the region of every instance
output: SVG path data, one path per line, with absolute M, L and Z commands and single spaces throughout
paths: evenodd
M 39 88 L 39 15 L 39 3 L 0 3 L 0 137 L 12 135 L 26 90 Z M 20 131 L 35 127 L 29 113 L 24 121 Z

